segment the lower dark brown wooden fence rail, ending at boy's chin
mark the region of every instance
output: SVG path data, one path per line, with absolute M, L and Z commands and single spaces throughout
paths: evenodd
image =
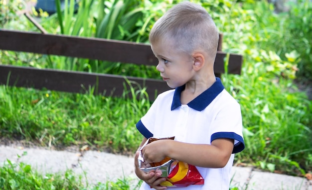
M 134 88 L 137 88 L 137 85 L 147 88 L 151 100 L 154 100 L 159 93 L 170 89 L 161 80 L 138 77 L 127 77 L 127 79 L 136 83 L 132 84 Z M 69 93 L 85 93 L 90 87 L 94 87 L 94 94 L 113 96 L 123 95 L 125 87 L 130 89 L 125 77 L 122 76 L 8 65 L 0 66 L 0 84 Z

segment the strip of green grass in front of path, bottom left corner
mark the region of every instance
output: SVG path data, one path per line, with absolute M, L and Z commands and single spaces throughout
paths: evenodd
M 6 160 L 0 167 L 1 190 L 135 190 L 133 179 L 124 177 L 116 182 L 88 184 L 72 170 L 42 175 L 25 163 Z

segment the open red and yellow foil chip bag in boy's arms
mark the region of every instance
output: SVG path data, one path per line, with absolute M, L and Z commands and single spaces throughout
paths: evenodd
M 174 139 L 174 137 L 168 138 L 155 138 L 151 137 L 147 142 L 142 146 L 141 150 L 149 143 L 152 143 L 155 140 L 161 139 Z M 142 152 L 140 151 L 139 155 L 139 166 L 144 162 Z M 172 160 L 171 158 L 164 158 L 158 163 L 150 163 L 152 167 L 150 168 L 141 168 L 145 172 L 151 170 L 160 170 L 162 172 L 161 177 L 165 177 L 166 181 L 160 183 L 160 186 L 166 187 L 187 187 L 190 185 L 203 185 L 204 179 L 198 172 L 197 168 L 193 165 L 187 164 L 185 162 Z

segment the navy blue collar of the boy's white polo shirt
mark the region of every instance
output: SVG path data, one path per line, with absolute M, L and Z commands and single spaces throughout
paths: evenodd
M 195 97 L 195 99 L 187 103 L 187 105 L 197 111 L 202 111 L 204 108 L 206 108 L 211 103 L 211 101 L 214 100 L 214 98 L 219 95 L 224 89 L 220 78 L 216 77 L 216 80 L 217 81 L 209 89 Z M 171 110 L 182 105 L 180 97 L 184 89 L 185 85 L 177 87 L 175 89 L 171 104 Z

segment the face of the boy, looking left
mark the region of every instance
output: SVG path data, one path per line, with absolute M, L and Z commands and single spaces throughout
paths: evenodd
M 172 40 L 161 40 L 151 45 L 158 59 L 157 71 L 170 88 L 180 87 L 192 80 L 193 60 L 185 52 L 178 51 Z

